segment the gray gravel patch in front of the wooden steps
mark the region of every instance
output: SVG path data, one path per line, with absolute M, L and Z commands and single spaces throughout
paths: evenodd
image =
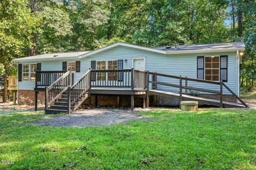
M 145 120 L 139 117 L 137 112 L 124 109 L 79 109 L 74 114 L 54 116 L 51 118 L 38 120 L 33 124 L 59 126 L 103 126 L 124 123 L 130 120 Z

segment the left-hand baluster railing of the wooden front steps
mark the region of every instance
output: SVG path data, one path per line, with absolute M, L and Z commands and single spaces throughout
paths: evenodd
M 45 109 L 49 107 L 57 98 L 59 98 L 71 84 L 71 71 L 68 70 L 59 79 L 50 86 L 45 87 Z M 51 99 L 49 101 L 49 98 Z

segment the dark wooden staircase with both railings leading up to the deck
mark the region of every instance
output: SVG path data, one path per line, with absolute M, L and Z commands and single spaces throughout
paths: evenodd
M 87 71 L 73 86 L 70 85 L 71 75 L 68 71 L 51 86 L 46 87 L 45 113 L 58 114 L 75 111 L 89 97 L 90 71 Z

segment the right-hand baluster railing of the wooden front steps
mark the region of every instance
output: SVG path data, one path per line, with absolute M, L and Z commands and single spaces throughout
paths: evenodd
M 68 89 L 69 105 L 73 106 L 91 88 L 91 69 Z

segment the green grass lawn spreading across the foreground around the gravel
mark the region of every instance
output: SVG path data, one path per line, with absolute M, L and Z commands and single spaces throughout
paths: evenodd
M 256 169 L 256 110 L 141 112 L 150 121 L 87 128 L 28 122 L 42 111 L 0 115 L 0 169 Z

